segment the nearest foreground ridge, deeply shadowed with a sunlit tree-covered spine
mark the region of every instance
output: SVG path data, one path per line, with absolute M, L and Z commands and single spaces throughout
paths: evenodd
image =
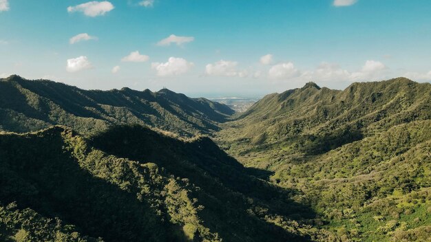
M 319 219 L 290 199 L 295 190 L 255 179 L 207 137 L 116 126 L 87 139 L 54 126 L 1 134 L 0 157 L 1 241 L 330 236 L 312 228 Z

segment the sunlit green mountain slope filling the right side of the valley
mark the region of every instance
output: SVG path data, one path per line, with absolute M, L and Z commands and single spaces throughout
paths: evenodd
M 227 153 L 298 189 L 294 200 L 341 241 L 429 239 L 430 83 L 395 78 L 343 91 L 308 83 L 222 125 Z

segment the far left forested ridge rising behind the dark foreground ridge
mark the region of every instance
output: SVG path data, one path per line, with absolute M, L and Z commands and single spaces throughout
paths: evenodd
M 168 89 L 83 90 L 50 80 L 0 79 L 0 130 L 28 132 L 54 124 L 94 133 L 112 124 L 148 125 L 179 135 L 218 130 L 234 111 Z

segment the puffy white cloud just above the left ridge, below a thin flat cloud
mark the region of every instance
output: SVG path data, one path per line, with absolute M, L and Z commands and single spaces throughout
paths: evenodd
M 151 63 L 151 69 L 157 71 L 157 76 L 178 76 L 189 72 L 193 65 L 183 58 L 170 57 L 167 63 Z

